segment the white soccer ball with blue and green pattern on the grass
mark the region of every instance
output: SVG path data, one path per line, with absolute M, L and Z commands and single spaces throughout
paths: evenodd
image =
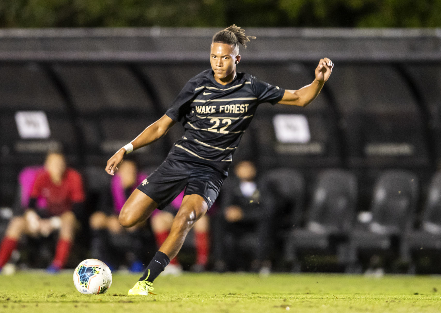
M 112 272 L 103 261 L 84 260 L 74 271 L 74 285 L 82 294 L 104 294 L 112 285 Z

